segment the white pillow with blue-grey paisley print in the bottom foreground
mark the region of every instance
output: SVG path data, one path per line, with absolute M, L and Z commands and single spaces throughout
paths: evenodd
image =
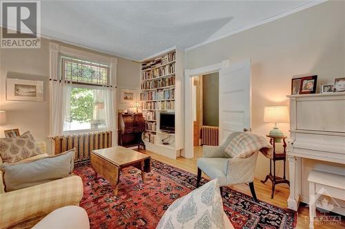
M 158 223 L 159 228 L 224 228 L 223 201 L 217 179 L 175 200 Z

